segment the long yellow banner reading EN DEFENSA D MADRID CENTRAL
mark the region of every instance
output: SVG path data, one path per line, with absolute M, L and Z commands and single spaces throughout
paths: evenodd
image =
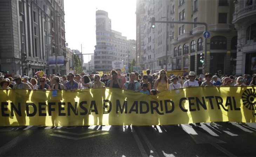
M 156 96 L 110 88 L 52 92 L 0 90 L 0 126 L 256 122 L 251 87 L 192 87 Z

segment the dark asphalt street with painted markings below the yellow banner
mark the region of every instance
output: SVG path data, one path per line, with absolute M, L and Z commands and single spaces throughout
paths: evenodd
M 255 156 L 256 124 L 0 127 L 0 156 Z

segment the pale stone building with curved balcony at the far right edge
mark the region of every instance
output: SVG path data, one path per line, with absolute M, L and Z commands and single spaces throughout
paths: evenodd
M 256 1 L 235 0 L 236 74 L 256 73 Z

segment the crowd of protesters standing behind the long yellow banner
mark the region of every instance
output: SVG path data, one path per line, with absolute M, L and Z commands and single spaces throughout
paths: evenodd
M 160 70 L 159 73 L 153 75 L 150 70 L 147 70 L 147 75 L 137 72 L 122 75 L 121 69 L 112 70 L 109 75 L 103 74 L 103 76 L 100 76 L 98 72 L 94 75 L 87 75 L 82 72 L 81 74 L 69 73 L 62 77 L 60 74 L 45 76 L 38 77 L 34 75 L 33 78 L 29 78 L 27 74 L 11 76 L 8 72 L 4 73 L 4 75 L 0 73 L 0 89 L 76 90 L 109 87 L 133 90 L 146 95 L 157 95 L 159 92 L 189 87 L 256 85 L 256 74 L 252 75 L 252 77 L 247 74 L 238 77 L 232 75 L 222 77 L 218 76 L 218 74 L 206 73 L 197 77 L 193 71 L 186 76 L 172 74 L 167 76 L 165 70 Z M 227 123 L 230 124 L 230 122 Z M 215 123 L 211 122 L 210 125 L 215 125 Z M 196 123 L 196 126 L 201 126 L 201 124 Z

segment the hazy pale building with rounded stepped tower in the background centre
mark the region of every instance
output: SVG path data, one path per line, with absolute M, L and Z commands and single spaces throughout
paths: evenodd
M 96 11 L 96 45 L 94 71 L 109 72 L 112 61 L 123 61 L 125 66 L 135 59 L 136 41 L 127 40 L 121 32 L 111 29 L 111 20 L 104 10 Z

